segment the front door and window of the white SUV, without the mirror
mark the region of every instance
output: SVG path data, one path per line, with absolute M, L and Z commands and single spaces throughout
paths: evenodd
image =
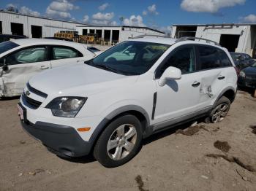
M 184 45 L 170 52 L 156 71 L 157 104 L 154 121 L 179 122 L 193 115 L 200 99 L 200 75 L 197 72 L 195 47 Z M 181 70 L 181 79 L 169 79 L 164 86 L 159 78 L 169 66 Z M 172 125 L 172 123 L 168 124 Z M 159 126 L 159 128 L 162 128 Z

